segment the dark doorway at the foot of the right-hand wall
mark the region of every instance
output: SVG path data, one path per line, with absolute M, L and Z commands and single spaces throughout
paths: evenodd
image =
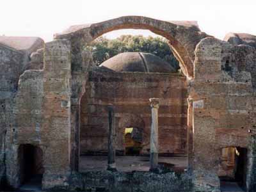
M 223 191 L 246 190 L 247 149 L 243 147 L 221 148 L 219 178 Z

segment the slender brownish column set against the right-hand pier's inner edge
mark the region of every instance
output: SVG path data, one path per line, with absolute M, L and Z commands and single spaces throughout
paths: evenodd
M 187 128 L 188 170 L 193 169 L 193 99 L 188 98 L 188 128 Z

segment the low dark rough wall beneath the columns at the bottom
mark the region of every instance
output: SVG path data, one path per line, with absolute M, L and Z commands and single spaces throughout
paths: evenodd
M 69 190 L 77 191 L 193 191 L 192 179 L 188 173 L 177 175 L 174 172 L 162 174 L 152 172 L 86 172 L 70 178 Z

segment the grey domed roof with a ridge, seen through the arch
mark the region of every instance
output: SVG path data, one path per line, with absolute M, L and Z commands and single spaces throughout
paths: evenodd
M 145 52 L 123 52 L 104 61 L 100 67 L 116 72 L 176 72 L 171 64 L 158 56 Z

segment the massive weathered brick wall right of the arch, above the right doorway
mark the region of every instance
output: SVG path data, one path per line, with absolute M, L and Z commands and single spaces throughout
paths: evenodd
M 196 47 L 195 79 L 190 97 L 194 110 L 195 184 L 218 188 L 221 148 L 248 148 L 255 131 L 253 75 L 255 49 L 205 38 Z

